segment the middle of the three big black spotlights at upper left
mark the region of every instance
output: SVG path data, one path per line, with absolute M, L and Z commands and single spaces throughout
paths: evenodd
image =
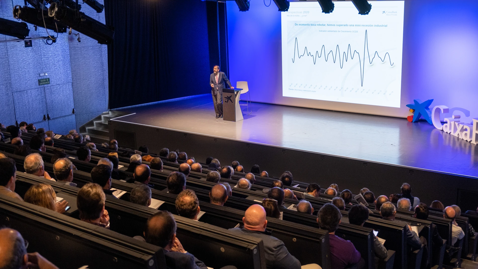
M 46 10 L 43 11 L 43 13 L 44 15 L 42 15 L 41 9 L 35 9 L 26 6 L 15 6 L 13 8 L 13 18 L 15 19 L 20 19 L 23 22 L 28 22 L 40 27 L 45 27 L 46 25 L 46 29 L 52 30 L 54 32 L 66 32 L 67 26 L 65 24 L 61 22 L 56 22 L 55 24 L 54 18 L 48 17 Z

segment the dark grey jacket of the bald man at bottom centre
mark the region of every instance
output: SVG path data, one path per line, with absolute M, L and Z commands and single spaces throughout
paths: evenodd
M 232 228 L 229 231 L 242 236 L 248 235 L 261 238 L 264 243 L 267 269 L 300 269 L 300 261 L 293 257 L 284 242 L 270 235 L 269 232 L 256 232 L 244 228 Z

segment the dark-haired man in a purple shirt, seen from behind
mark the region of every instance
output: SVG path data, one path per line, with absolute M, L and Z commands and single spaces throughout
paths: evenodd
M 364 259 L 354 245 L 335 235 L 342 215 L 333 204 L 324 204 L 317 215 L 317 223 L 321 229 L 329 232 L 330 265 L 334 269 L 354 268 L 365 266 Z

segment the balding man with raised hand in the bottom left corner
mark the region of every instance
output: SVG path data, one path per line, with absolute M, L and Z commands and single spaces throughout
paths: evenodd
M 25 240 L 17 230 L 0 229 L 0 268 L 58 269 L 38 252 L 27 254 L 26 245 Z

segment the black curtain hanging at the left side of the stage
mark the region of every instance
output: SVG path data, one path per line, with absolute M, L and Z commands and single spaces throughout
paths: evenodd
M 109 108 L 210 92 L 206 1 L 105 0 Z

